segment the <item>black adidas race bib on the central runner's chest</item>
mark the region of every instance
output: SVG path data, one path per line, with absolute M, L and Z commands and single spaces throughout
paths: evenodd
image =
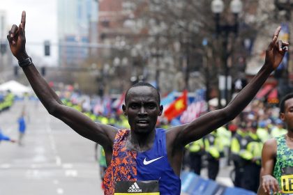
M 160 195 L 158 180 L 151 181 L 118 181 L 115 182 L 114 195 L 140 194 Z

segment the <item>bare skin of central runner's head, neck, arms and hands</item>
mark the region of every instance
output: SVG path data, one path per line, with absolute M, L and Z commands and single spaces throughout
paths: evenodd
M 11 52 L 18 61 L 29 57 L 25 49 L 25 24 L 26 13 L 22 12 L 20 25 L 14 24 L 7 36 Z M 279 32 L 280 27 L 276 29 L 269 47 L 266 49 L 266 59 L 260 71 L 227 107 L 204 114 L 204 116 L 193 120 L 191 123 L 171 127 L 167 130 L 167 157 L 177 176 L 181 171 L 184 146 L 204 137 L 204 135 L 234 119 L 254 98 L 271 72 L 278 67 L 287 51 L 287 49 L 282 48 L 289 45 L 287 42 L 277 41 Z M 64 106 L 57 94 L 52 91 L 45 79 L 41 77 L 35 65 L 32 64 L 22 69 L 33 91 L 35 91 L 49 114 L 62 120 L 83 137 L 103 146 L 107 164 L 110 164 L 112 145 L 118 131 L 117 128 L 94 123 L 79 111 Z M 137 151 L 148 150 L 152 146 L 156 121 L 158 116 L 162 114 L 163 107 L 158 103 L 157 93 L 150 87 L 130 88 L 130 94 L 126 104 L 123 105 L 123 111 L 128 116 L 131 130 L 128 137 L 128 148 Z

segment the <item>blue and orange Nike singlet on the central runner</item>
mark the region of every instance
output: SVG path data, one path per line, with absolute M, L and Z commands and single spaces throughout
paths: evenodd
M 147 180 L 158 180 L 160 194 L 180 194 L 181 180 L 167 159 L 165 130 L 156 129 L 153 147 L 142 153 L 126 149 L 129 132 L 117 132 L 112 161 L 105 173 L 104 194 L 114 194 L 115 182 Z

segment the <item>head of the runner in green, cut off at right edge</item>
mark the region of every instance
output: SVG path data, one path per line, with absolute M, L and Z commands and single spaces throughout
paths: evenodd
M 293 130 L 293 93 L 285 95 L 281 100 L 280 119 L 287 125 L 287 130 Z

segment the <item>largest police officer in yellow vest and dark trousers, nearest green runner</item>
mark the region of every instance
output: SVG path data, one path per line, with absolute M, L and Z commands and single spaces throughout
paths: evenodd
M 260 184 L 260 168 L 263 143 L 257 136 L 257 121 L 248 123 L 247 145 L 245 150 L 240 151 L 240 156 L 246 160 L 241 181 L 241 187 L 257 192 Z

